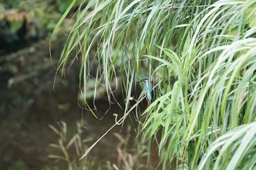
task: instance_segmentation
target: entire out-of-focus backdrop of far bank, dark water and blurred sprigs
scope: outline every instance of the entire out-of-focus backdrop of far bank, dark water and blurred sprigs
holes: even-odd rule
[[[77,7],[80,2],[76,2]],[[59,62],[67,40],[65,31],[72,21],[64,20],[65,30],[59,30],[61,34],[53,37],[52,58],[50,36],[69,3],[69,0],[0,1],[0,169],[157,166],[157,159],[147,165],[148,147],[141,139],[135,142],[138,123],[132,118],[123,127],[110,131],[86,159],[78,161],[115,123],[113,113],[123,111],[117,104],[110,107],[104,96],[95,101],[98,117],[110,109],[102,120],[79,107],[78,62],[66,70],[66,77],[56,74],[53,66]],[[72,9],[68,18],[75,11]]]

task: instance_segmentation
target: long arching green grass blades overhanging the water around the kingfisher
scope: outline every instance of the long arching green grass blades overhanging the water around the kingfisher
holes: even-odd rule
[[[72,51],[77,53],[87,107],[91,80],[94,98],[104,87],[110,100],[116,90],[111,83],[121,77],[126,107],[118,123],[129,115],[137,80],[151,77],[154,101],[141,113],[149,115],[143,135],[154,141],[160,134],[162,169],[170,169],[173,161],[188,169],[252,169],[255,7],[252,0],[89,1],[74,15],[58,69]],[[133,107],[143,95],[134,97]]]

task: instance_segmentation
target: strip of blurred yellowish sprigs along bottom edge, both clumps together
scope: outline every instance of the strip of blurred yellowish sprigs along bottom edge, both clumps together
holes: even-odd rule
[[[127,127],[126,136],[118,133],[113,134],[113,137],[118,140],[115,146],[116,150],[112,150],[113,153],[116,152],[116,160],[112,158],[112,160],[102,162],[100,155],[97,154],[79,161],[80,155],[89,145],[88,143],[94,140],[93,134],[86,136],[86,139],[81,139],[80,136],[82,136],[83,127],[80,123],[76,123],[77,131],[72,137],[69,137],[67,124],[64,121],[58,122],[57,124],[59,126],[57,128],[49,125],[49,128],[58,136],[58,142],[50,144],[50,147],[55,152],[48,155],[48,158],[54,160],[55,166],[45,166],[45,170],[113,169],[113,167],[118,167],[119,169],[146,169],[146,166],[148,166],[146,165],[148,147],[144,144],[145,142],[137,140],[133,142],[133,145],[129,142],[132,138],[131,126]],[[108,147],[111,148],[113,146],[108,144]],[[111,153],[108,155],[111,155]]]

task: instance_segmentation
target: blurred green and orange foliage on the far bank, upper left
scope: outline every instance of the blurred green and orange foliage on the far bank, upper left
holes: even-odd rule
[[[56,21],[68,5],[69,0],[0,1],[0,45],[5,47],[52,34]]]

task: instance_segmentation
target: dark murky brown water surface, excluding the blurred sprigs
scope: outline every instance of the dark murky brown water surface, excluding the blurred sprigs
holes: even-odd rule
[[[65,167],[64,163],[56,164],[48,158],[49,154],[56,152],[49,144],[56,143],[58,139],[48,125],[56,126],[63,120],[67,123],[67,134],[72,136],[75,133],[76,123],[82,118],[82,109],[78,107],[79,66],[72,66],[67,79],[57,77],[53,90],[55,69],[48,56],[48,40],[43,40],[9,55],[7,59],[0,58],[0,169]],[[97,101],[97,106],[99,117],[109,109],[108,101],[104,99]],[[102,120],[84,110],[86,128],[82,138],[90,138],[88,144],[93,144],[115,123],[113,113],[122,114],[123,110],[117,104],[113,105]],[[107,161],[117,163],[116,148],[120,140],[113,133],[126,136],[128,124],[132,127],[129,134],[129,144],[132,145],[138,123],[128,118],[122,130],[121,126],[116,126],[89,153],[88,157],[97,161],[97,167]]]

